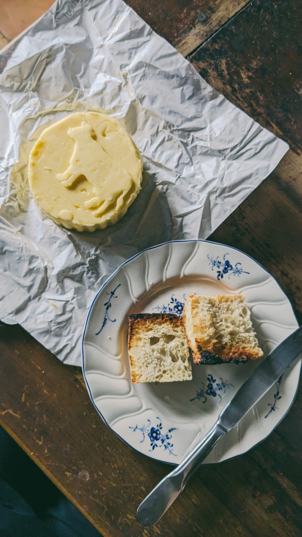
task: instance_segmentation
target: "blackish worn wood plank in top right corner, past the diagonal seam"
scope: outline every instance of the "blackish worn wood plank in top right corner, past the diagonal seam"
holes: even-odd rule
[[[189,59],[200,75],[294,151],[302,149],[299,0],[255,0]]]

